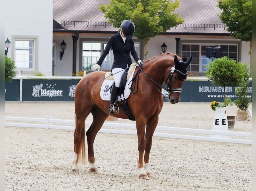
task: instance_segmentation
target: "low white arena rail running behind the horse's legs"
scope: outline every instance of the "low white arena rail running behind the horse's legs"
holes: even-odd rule
[[[85,124],[86,124],[86,130],[88,130],[92,122],[86,121]],[[62,130],[74,131],[75,121],[53,119],[51,118],[51,116],[46,116],[45,118],[5,116],[5,126],[62,129]],[[99,132],[137,135],[135,124],[113,123],[113,122],[112,123],[105,122]],[[173,132],[175,132],[175,134]],[[203,136],[202,134],[203,135],[207,134],[208,136]],[[217,131],[217,130],[207,130],[207,129],[157,126],[154,132],[154,136],[198,140],[198,141],[252,144],[252,140],[251,140],[252,133],[249,133],[249,132]],[[240,138],[240,137],[243,137],[243,138]]]

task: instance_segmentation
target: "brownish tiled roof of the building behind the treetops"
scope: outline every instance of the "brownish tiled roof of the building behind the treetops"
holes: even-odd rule
[[[116,32],[117,28],[108,23],[108,19],[99,9],[101,4],[106,5],[109,2],[109,0],[53,0],[53,19],[67,30]],[[181,0],[175,13],[184,18],[184,23],[171,28],[166,33],[230,34],[219,18],[221,10],[217,5],[218,0]]]

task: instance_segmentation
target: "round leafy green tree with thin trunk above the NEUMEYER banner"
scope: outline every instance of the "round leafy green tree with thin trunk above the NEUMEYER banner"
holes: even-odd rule
[[[225,87],[245,86],[249,81],[249,69],[246,63],[230,60],[226,56],[209,63],[206,77],[214,86],[224,87],[224,99],[226,98]]]

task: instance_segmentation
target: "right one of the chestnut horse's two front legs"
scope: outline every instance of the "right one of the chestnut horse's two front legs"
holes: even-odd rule
[[[155,117],[151,117],[147,122],[147,129],[146,129],[146,146],[145,146],[145,155],[144,155],[144,169],[147,173],[148,177],[153,177],[152,172],[149,170],[149,153],[152,146],[152,137],[155,132],[155,128],[158,123],[158,115]]]

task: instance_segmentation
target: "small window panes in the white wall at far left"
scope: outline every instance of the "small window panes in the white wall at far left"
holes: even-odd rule
[[[17,69],[34,70],[35,39],[15,39],[15,65]]]

